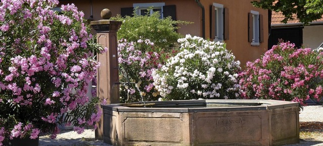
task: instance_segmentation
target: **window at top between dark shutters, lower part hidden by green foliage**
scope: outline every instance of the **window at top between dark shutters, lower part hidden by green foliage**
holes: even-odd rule
[[[137,15],[147,15],[152,14],[153,12],[159,12],[160,19],[163,18],[163,6],[165,6],[165,3],[138,3],[133,4],[134,8],[137,8]],[[150,9],[150,12],[148,12],[147,9]]]

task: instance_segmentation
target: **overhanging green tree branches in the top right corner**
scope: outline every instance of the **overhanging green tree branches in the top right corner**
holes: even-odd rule
[[[293,20],[293,14],[296,14],[300,22],[307,25],[309,22],[320,19],[323,15],[322,0],[261,0],[252,1],[254,7],[282,12],[285,16],[283,23]]]

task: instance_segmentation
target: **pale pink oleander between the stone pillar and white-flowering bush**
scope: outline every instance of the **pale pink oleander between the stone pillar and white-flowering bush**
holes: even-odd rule
[[[174,51],[173,51],[174,52]],[[156,49],[150,40],[139,39],[118,43],[120,95],[122,103],[156,101],[160,98],[152,79],[152,71],[161,67],[172,52]]]

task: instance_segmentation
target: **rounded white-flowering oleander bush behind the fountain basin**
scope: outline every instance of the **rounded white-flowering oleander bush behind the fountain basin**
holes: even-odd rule
[[[152,73],[155,88],[164,100],[239,97],[240,62],[234,60],[225,43],[190,35],[178,42],[181,51]]]

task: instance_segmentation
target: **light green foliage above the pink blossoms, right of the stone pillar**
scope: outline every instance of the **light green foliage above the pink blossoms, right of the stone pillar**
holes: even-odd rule
[[[150,12],[150,11],[148,11]],[[133,17],[113,17],[111,20],[122,21],[118,31],[118,40],[137,41],[149,39],[154,46],[163,49],[171,49],[177,43],[177,39],[183,36],[176,32],[179,24],[188,24],[184,21],[173,21],[171,17],[160,19],[159,12],[139,16],[134,13]]]

